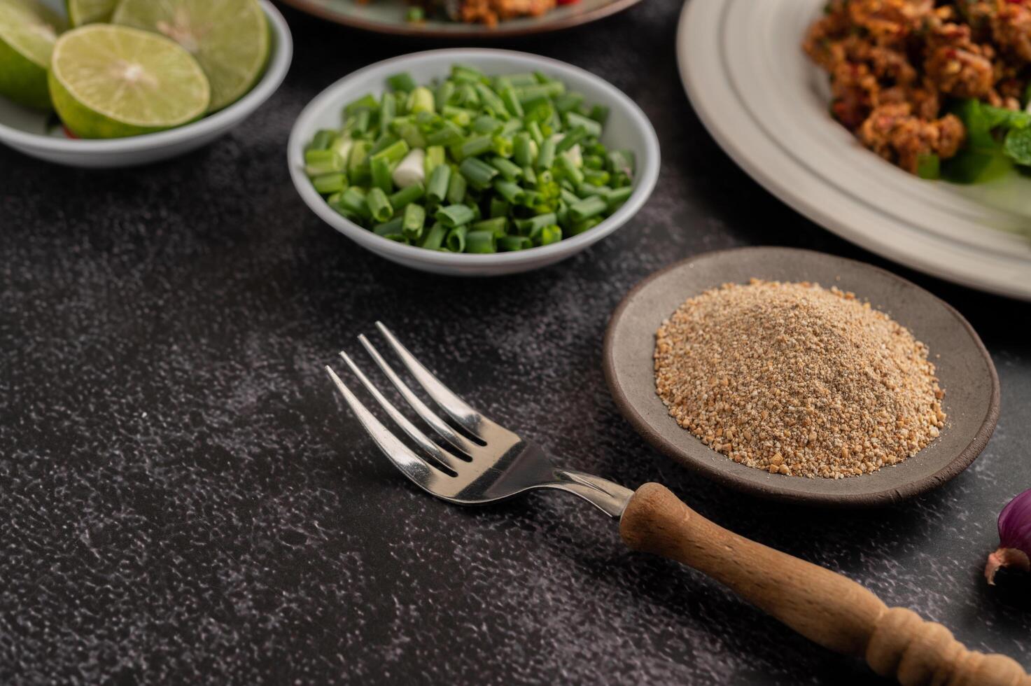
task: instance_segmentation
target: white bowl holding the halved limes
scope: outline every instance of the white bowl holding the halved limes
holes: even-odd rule
[[[64,3],[60,3],[61,6]],[[127,167],[189,153],[218,138],[250,117],[275,93],[287,75],[294,42],[282,14],[268,0],[262,9],[274,40],[261,80],[242,98],[209,117],[176,129],[130,138],[85,140],[67,137],[53,128],[54,116],[16,105],[0,97],[0,142],[26,155],[75,167]]]

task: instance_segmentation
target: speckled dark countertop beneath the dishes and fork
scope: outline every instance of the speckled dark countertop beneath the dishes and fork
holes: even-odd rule
[[[287,83],[205,150],[104,172],[0,149],[0,683],[872,680],[700,575],[629,553],[574,498],[462,510],[410,487],[321,370],[376,318],[569,466],[661,481],[1031,668],[1028,585],[980,578],[999,508],[1031,486],[1031,307],[891,265],[760,189],[684,96],[678,9],[647,0],[506,43],[623,89],[664,156],[628,227],[526,275],[401,269],[307,211],[284,163],[295,117],[348,70],[428,45],[295,11]],[[905,504],[819,513],[738,496],[646,448],[602,379],[609,313],[659,267],[755,243],[888,266],[966,315],[1002,381],[982,457]]]

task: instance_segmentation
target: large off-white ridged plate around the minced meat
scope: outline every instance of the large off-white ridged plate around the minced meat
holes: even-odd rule
[[[827,74],[801,48],[825,0],[690,0],[676,36],[688,97],[771,193],[867,250],[965,286],[1031,300],[1031,179],[927,182],[828,115]]]

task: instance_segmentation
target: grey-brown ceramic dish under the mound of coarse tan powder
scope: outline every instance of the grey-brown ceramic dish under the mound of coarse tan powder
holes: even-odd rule
[[[655,392],[655,331],[687,298],[751,277],[810,281],[854,291],[927,344],[945,390],[945,428],[901,464],[851,479],[771,475],[710,450],[669,416]],[[638,284],[616,309],[605,333],[605,378],[620,410],[662,453],[731,488],[825,507],[897,502],[940,486],[973,462],[999,418],[999,378],[980,338],[952,306],[884,269],[788,248],[741,248],[691,258]]]

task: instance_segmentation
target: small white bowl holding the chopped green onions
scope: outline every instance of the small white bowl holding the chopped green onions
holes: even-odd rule
[[[405,246],[344,219],[315,192],[304,173],[304,146],[319,129],[340,126],[343,105],[366,93],[379,95],[387,76],[409,72],[421,84],[448,73],[452,64],[474,66],[487,74],[539,70],[561,79],[573,91],[584,94],[586,102],[607,105],[608,122],[602,141],[613,149],[629,149],[637,158],[634,191],[616,213],[590,231],[551,246],[512,253],[468,255],[425,250]],[[287,145],[290,175],[301,198],[327,224],[363,248],[388,260],[414,269],[442,274],[487,276],[529,271],[575,255],[623,226],[647,200],[659,177],[659,139],[644,112],[611,84],[577,67],[548,58],[503,50],[436,50],[414,53],[377,62],[336,81],[308,103],[294,124]]]

